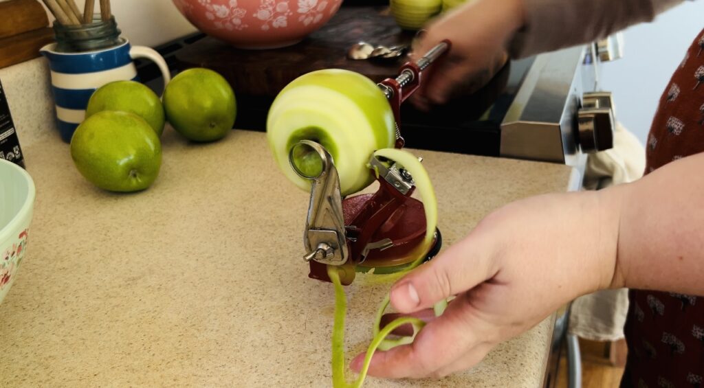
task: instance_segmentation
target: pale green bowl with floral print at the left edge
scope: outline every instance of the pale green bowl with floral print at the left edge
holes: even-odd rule
[[[0,159],[0,303],[25,257],[33,209],[34,182],[30,174]]]

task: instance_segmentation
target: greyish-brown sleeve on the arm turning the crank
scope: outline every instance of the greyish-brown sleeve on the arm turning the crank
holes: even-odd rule
[[[524,27],[509,46],[513,58],[584,44],[649,22],[682,0],[523,0]]]

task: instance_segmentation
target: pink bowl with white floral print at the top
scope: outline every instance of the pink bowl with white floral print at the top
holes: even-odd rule
[[[238,48],[291,46],[318,30],[342,0],[173,0],[199,30]]]

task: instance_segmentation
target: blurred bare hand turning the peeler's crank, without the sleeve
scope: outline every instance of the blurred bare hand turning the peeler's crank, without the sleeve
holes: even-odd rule
[[[449,39],[448,56],[411,98],[427,110],[484,86],[508,60],[506,44],[523,25],[522,0],[474,0],[432,22],[413,48],[417,60]]]

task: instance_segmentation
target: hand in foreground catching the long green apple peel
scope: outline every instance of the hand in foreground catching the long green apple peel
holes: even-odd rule
[[[618,198],[613,190],[542,195],[490,214],[394,285],[394,308],[422,319],[432,317],[434,303],[456,297],[413,344],[377,352],[369,374],[437,377],[465,370],[575,297],[609,287]]]

